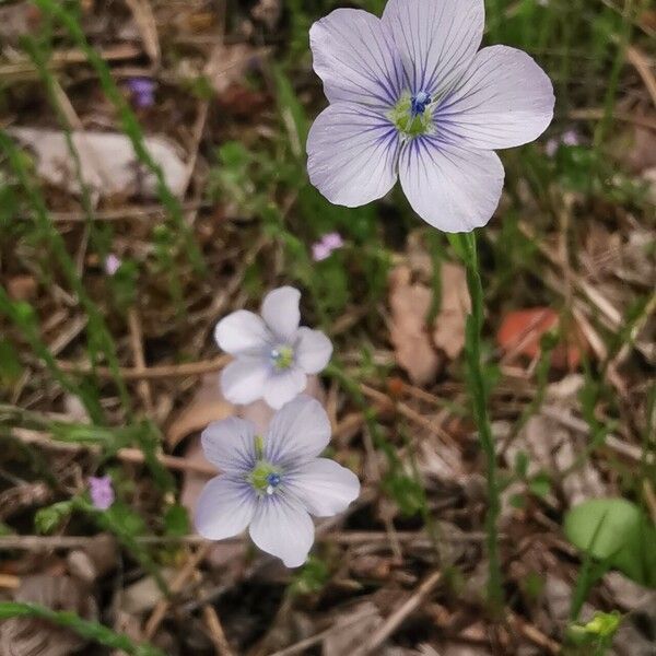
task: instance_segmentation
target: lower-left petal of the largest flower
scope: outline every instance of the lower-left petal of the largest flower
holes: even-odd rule
[[[356,208],[382,198],[397,180],[399,137],[385,117],[362,105],[324,109],[307,138],[312,184],[332,203]]]

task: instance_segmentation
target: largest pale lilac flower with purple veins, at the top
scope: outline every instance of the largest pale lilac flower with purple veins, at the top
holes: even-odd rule
[[[358,207],[400,178],[414,211],[446,232],[488,223],[504,169],[495,149],[537,139],[553,87],[525,52],[479,50],[483,0],[389,0],[378,19],[338,9],[311,30],[330,106],[307,140],[311,181]]]

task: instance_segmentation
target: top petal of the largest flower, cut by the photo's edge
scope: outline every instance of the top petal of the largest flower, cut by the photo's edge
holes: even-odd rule
[[[401,52],[410,90],[442,96],[471,63],[485,22],[483,0],[389,0],[383,24]]]

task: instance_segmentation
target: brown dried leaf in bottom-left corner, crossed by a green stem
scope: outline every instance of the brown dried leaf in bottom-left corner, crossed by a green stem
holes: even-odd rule
[[[14,593],[14,600],[71,610],[86,620],[98,616],[95,599],[86,587],[69,576],[27,576]],[[70,656],[85,644],[77,633],[35,618],[12,618],[0,624],[2,656]]]

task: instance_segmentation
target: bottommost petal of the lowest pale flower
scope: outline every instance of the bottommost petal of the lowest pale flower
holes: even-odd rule
[[[298,567],[314,542],[314,524],[303,505],[291,496],[272,494],[261,499],[253,523],[253,541],[288,567]]]

